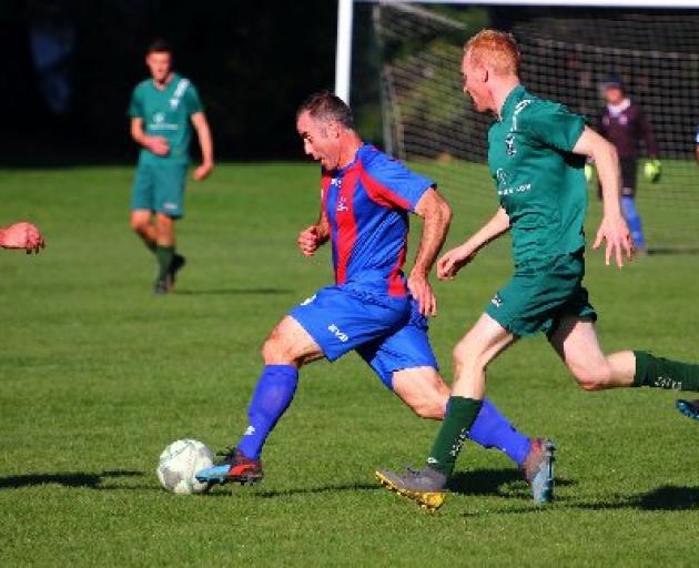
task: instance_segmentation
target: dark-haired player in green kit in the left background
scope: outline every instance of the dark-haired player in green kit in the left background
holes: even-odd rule
[[[213,143],[204,109],[194,85],[172,70],[172,49],[154,41],[145,55],[151,78],[131,95],[131,138],[141,145],[131,195],[131,226],[158,258],[154,292],[169,292],[184,266],[175,252],[174,223],[184,214],[184,186],[190,164],[192,126],[202,151],[194,180],[213,169]]]

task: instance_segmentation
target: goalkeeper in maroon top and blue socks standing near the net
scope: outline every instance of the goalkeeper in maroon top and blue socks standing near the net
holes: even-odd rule
[[[648,158],[652,160],[651,170],[660,173],[658,161],[658,141],[650,122],[640,105],[631,101],[618,77],[611,75],[604,83],[607,105],[598,121],[598,131],[611,142],[619,154],[621,169],[621,209],[631,231],[637,253],[646,252],[646,239],[640,216],[634,201],[638,171],[639,142],[644,142]]]

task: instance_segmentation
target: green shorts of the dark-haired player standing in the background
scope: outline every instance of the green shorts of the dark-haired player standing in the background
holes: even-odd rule
[[[139,164],[131,210],[146,209],[175,219],[183,216],[186,171],[183,164]]]

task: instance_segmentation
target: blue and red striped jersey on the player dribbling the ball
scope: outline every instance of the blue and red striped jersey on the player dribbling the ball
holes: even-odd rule
[[[407,214],[433,185],[371,144],[363,144],[348,165],[323,171],[336,284],[407,295]]]

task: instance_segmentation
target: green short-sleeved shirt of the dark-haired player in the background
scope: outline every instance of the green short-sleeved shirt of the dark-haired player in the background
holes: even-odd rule
[[[203,111],[196,89],[189,79],[174,73],[164,89],[151,79],[140,82],[131,95],[129,116],[143,119],[143,131],[151,136],[164,136],[170,153],[155,155],[142,148],[139,164],[188,164],[192,139],[192,114]]]

